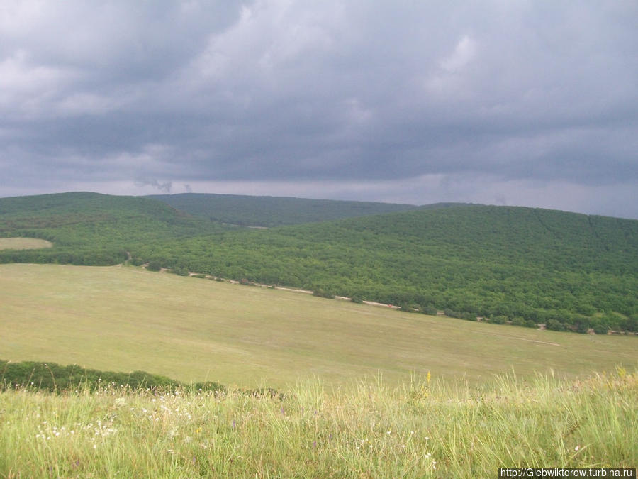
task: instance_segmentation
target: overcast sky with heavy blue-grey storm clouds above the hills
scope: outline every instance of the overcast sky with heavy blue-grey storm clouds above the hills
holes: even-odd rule
[[[638,219],[638,2],[0,2],[0,197]]]

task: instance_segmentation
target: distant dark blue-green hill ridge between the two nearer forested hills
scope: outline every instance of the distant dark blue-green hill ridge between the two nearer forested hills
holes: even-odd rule
[[[240,226],[303,224],[417,208],[412,204],[238,194],[154,194],[148,198],[159,199],[198,218]]]

